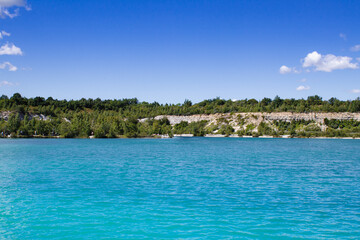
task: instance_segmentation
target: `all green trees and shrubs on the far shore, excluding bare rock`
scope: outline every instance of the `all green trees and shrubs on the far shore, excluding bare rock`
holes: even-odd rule
[[[173,134],[223,135],[290,135],[311,136],[360,136],[358,121],[326,120],[326,130],[311,121],[262,122],[259,126],[245,124],[238,119],[241,130],[235,132],[226,120],[218,124],[208,122],[181,122],[171,126],[166,118],[154,120],[158,115],[193,115],[235,112],[360,112],[360,99],[341,101],[336,98],[323,100],[319,96],[305,99],[264,98],[260,101],[239,101],[220,98],[204,100],[197,104],[185,100],[183,104],[139,102],[136,98],[121,100],[80,99],[55,100],[53,98],[25,98],[16,93],[0,97],[0,113],[10,112],[8,119],[0,116],[0,137],[147,137]],[[46,116],[46,119],[34,116]],[[147,118],[145,121],[139,119]]]

